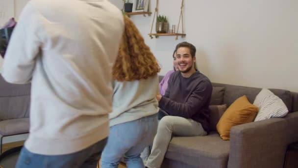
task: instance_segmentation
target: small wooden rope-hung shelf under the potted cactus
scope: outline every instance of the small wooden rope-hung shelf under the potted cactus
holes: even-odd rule
[[[183,25],[184,0],[181,0],[180,16],[179,16],[179,22],[178,22],[177,32],[174,32],[174,33],[173,32],[171,32],[171,33],[152,33],[152,29],[153,29],[153,24],[154,24],[154,21],[155,21],[155,17],[157,19],[158,2],[159,2],[159,0],[156,0],[156,7],[155,7],[155,10],[154,10],[153,21],[152,21],[151,30],[150,30],[150,33],[149,33],[150,38],[153,39],[153,36],[155,36],[156,38],[158,38],[159,36],[176,36],[176,40],[177,40],[178,39],[178,36],[185,37],[186,34],[184,33],[184,25]],[[181,24],[181,26],[182,26],[182,33],[178,33],[179,32],[180,21],[182,22],[182,24]]]

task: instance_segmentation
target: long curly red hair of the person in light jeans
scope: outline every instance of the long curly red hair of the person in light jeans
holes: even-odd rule
[[[134,81],[156,75],[160,67],[134,23],[124,16],[125,30],[113,66],[113,79]]]

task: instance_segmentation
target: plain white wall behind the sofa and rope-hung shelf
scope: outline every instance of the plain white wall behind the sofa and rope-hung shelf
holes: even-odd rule
[[[118,7],[121,0],[110,0]],[[154,12],[156,0],[150,0]],[[159,0],[159,14],[177,25],[181,0]],[[150,39],[153,19],[131,19],[163,68],[177,43],[197,47],[199,70],[212,82],[298,91],[298,0],[184,0],[184,39]],[[153,32],[154,25],[153,25]]]

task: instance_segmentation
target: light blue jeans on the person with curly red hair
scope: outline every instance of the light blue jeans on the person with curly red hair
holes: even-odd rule
[[[152,143],[157,131],[157,115],[110,127],[109,140],[101,155],[100,168],[118,168],[121,158],[127,168],[144,168],[141,152]]]

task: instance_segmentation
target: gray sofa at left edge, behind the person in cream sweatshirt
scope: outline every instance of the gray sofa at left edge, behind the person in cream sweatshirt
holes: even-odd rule
[[[0,75],[0,153],[2,138],[29,132],[31,84],[9,84]]]

